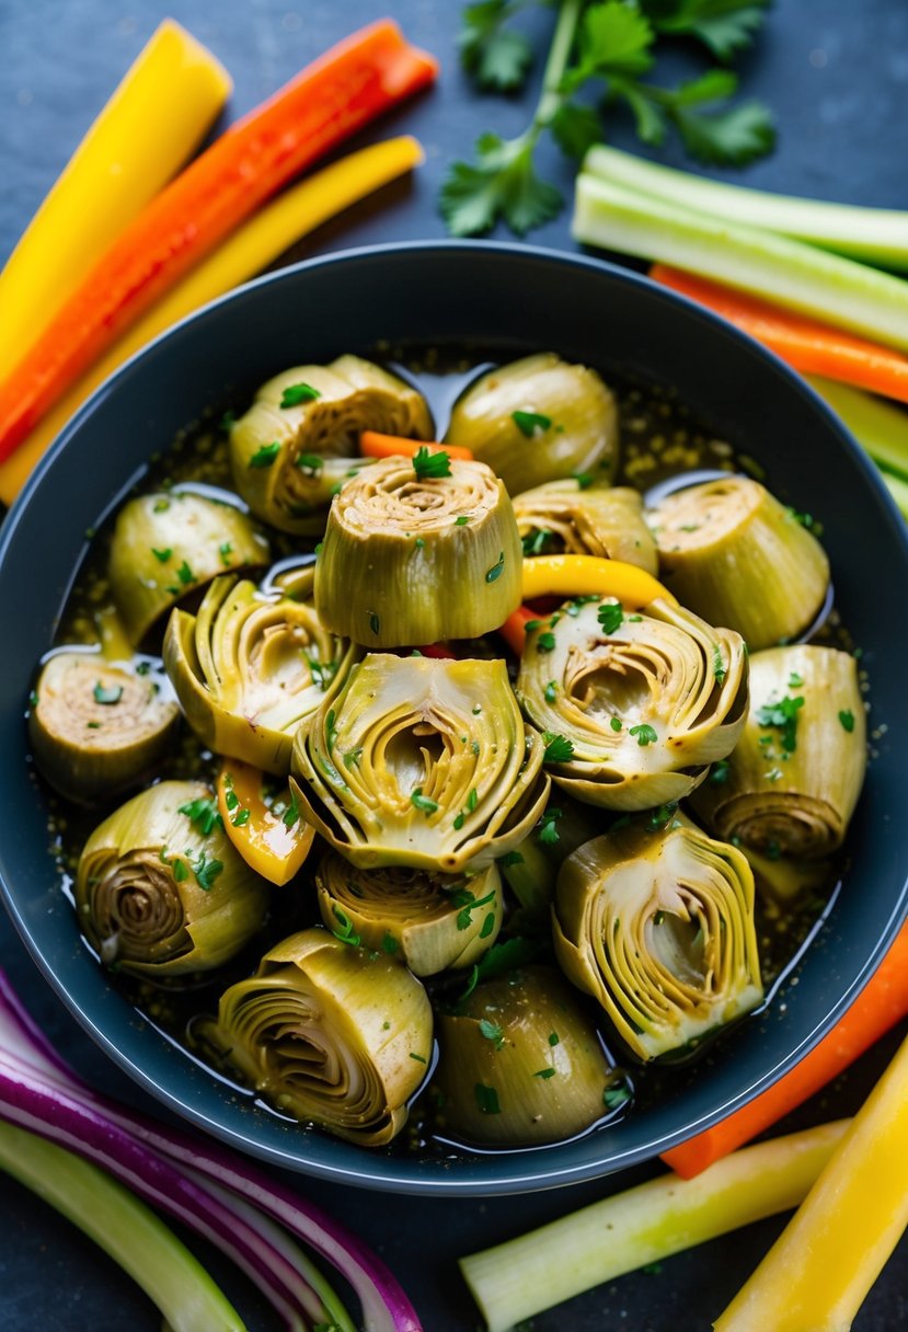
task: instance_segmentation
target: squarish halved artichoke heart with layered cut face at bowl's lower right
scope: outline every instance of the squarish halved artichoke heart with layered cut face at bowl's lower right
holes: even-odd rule
[[[687,819],[626,826],[568,856],[554,943],[566,975],[643,1060],[698,1042],[763,999],[751,868]]]

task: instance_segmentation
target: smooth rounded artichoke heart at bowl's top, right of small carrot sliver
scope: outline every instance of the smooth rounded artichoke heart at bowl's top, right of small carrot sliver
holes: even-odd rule
[[[578,474],[607,481],[618,466],[618,408],[595,370],[541,352],[471,384],[445,438],[487,462],[511,496]]]

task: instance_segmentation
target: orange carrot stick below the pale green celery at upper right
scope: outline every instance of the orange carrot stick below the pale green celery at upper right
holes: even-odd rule
[[[901,352],[667,264],[654,264],[650,277],[722,314],[804,374],[821,374],[908,402],[908,356]]]

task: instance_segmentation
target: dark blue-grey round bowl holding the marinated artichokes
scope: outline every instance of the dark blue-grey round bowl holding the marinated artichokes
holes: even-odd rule
[[[558,1147],[449,1160],[383,1155],[286,1124],[196,1066],[111,986],[79,939],[47,851],[23,713],[87,529],[149,456],[206,409],[288,365],[375,344],[555,349],[674,385],[758,458],[772,488],[821,519],[836,598],[872,682],[873,759],[841,892],[795,976],[719,1056],[659,1103]],[[124,366],[77,414],[8,517],[0,545],[0,878],[57,994],[133,1078],[218,1138],[277,1164],[374,1188],[493,1193],[604,1175],[704,1128],[768,1087],[839,1018],[908,900],[903,779],[908,706],[905,527],[873,466],[807,385],[756,342],[647,278],[588,258],[493,244],[355,250],[265,277],[210,305]]]

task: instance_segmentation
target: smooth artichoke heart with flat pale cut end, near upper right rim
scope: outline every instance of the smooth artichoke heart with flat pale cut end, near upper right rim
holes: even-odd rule
[[[829,587],[829,561],[797,514],[750,477],[667,496],[647,513],[660,577],[711,625],[736,629],[752,651],[796,638]]]

